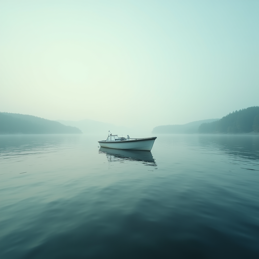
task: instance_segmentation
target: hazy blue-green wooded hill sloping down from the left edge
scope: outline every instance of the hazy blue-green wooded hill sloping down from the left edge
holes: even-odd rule
[[[0,112],[0,134],[80,134],[76,127],[32,115]]]

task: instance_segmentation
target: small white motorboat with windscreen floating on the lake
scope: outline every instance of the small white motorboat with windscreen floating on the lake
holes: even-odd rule
[[[98,141],[101,147],[129,150],[146,150],[150,151],[153,147],[156,137],[132,139],[129,135],[127,138],[119,138],[118,135],[112,135],[109,131],[106,140]]]

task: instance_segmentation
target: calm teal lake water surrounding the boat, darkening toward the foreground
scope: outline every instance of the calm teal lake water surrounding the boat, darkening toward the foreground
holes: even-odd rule
[[[259,258],[259,135],[0,135],[0,258]]]

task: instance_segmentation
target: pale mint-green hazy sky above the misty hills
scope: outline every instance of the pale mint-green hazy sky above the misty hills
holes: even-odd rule
[[[153,127],[259,105],[259,1],[0,3],[0,111]]]

